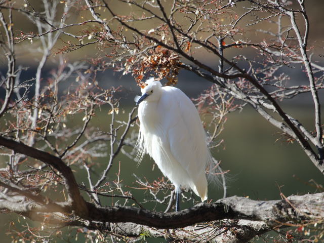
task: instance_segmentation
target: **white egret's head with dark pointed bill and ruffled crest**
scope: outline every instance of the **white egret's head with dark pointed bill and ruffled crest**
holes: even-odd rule
[[[139,105],[143,100],[157,101],[161,96],[162,85],[159,81],[150,78],[146,80],[145,84],[146,86],[141,88],[142,96],[138,99],[136,105]]]

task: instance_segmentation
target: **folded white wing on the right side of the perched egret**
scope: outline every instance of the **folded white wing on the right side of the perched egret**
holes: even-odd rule
[[[190,176],[205,173],[210,154],[198,111],[181,90],[173,87],[164,89],[168,91],[166,98],[171,102],[165,118],[168,121],[164,123],[168,124],[165,129],[172,155]]]

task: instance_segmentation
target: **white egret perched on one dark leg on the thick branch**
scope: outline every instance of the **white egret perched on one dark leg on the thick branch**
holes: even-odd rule
[[[153,78],[136,96],[140,130],[136,147],[142,160],[148,153],[176,188],[176,211],[181,187],[191,188],[207,199],[206,167],[212,157],[198,111],[191,100],[175,87],[162,87]]]

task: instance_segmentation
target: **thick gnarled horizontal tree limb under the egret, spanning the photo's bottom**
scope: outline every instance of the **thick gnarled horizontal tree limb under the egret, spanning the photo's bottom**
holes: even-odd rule
[[[159,229],[174,229],[172,236],[181,239],[192,238],[197,234],[199,237],[213,237],[217,242],[220,239],[240,242],[229,239],[239,237],[249,240],[273,228],[320,222],[324,218],[323,201],[324,192],[269,201],[232,196],[219,199],[213,204],[201,203],[176,213],[152,212],[135,207],[100,207],[88,203],[88,211],[91,212],[89,216],[73,217],[66,212],[61,222],[61,216],[58,217],[60,213],[50,215],[45,213],[44,206],[39,210],[35,204],[30,207],[30,203],[26,201],[13,203],[0,199],[0,210],[16,212],[36,221],[47,218],[50,224],[100,228],[127,236],[144,234],[147,237],[162,237],[166,231]],[[35,212],[37,209],[38,212]],[[234,231],[230,228],[235,228],[235,235],[231,234]]]

